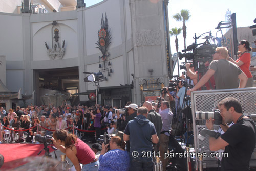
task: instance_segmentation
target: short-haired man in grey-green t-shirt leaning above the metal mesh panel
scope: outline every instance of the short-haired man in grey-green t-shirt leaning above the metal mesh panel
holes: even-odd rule
[[[191,95],[192,91],[202,87],[212,75],[215,78],[216,89],[245,87],[248,78],[236,64],[227,60],[228,50],[226,47],[217,47],[212,57],[213,61],[211,61],[209,69],[194,88],[187,90],[187,95]],[[239,87],[238,79],[240,79]]]

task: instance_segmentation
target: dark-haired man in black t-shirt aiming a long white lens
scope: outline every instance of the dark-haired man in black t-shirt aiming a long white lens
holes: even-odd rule
[[[225,148],[228,157],[221,160],[221,170],[249,170],[251,154],[256,143],[254,121],[242,114],[242,106],[233,97],[219,102],[222,116],[221,128],[225,132],[219,138],[209,137],[209,148],[217,151]],[[235,123],[228,127],[226,123]],[[209,130],[214,130],[212,118],[206,121]]]

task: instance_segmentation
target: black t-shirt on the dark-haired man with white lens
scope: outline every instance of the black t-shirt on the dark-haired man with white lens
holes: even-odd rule
[[[240,119],[221,135],[229,143],[221,160],[221,170],[249,170],[251,154],[256,143],[255,124],[251,119]]]

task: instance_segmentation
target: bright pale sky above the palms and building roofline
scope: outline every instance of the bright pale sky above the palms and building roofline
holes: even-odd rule
[[[89,7],[101,1],[102,0],[85,0],[84,2],[86,3],[86,7]],[[256,0],[169,0],[169,29],[175,27],[182,28],[183,23],[176,21],[172,17],[182,9],[189,10],[191,15],[189,20],[186,22],[186,46],[191,45],[195,41],[193,39],[195,33],[199,36],[202,33],[211,31],[212,36],[221,37],[221,33],[217,33],[218,30],[215,28],[218,26],[219,22],[225,21],[225,14],[228,9],[231,11],[231,14],[236,13],[237,27],[252,26],[254,25],[253,20],[256,18]],[[226,29],[222,29],[222,32],[225,34]],[[179,51],[181,52],[181,50],[184,49],[182,32],[178,35],[178,40]],[[204,41],[205,39],[198,39],[197,43],[202,43]],[[175,36],[170,38],[170,45],[172,54],[176,53]],[[176,65],[174,75],[177,75],[177,73]]]

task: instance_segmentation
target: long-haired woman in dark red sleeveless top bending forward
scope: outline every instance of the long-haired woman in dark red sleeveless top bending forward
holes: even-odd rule
[[[68,134],[64,129],[53,132],[53,144],[74,164],[77,171],[97,171],[99,161],[92,149],[74,134]],[[81,168],[80,164],[83,166]]]

